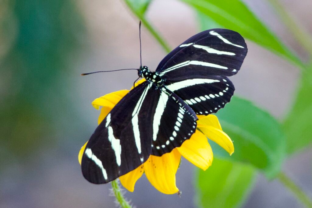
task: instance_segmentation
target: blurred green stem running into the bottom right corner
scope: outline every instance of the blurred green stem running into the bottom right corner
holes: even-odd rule
[[[280,172],[277,176],[280,182],[286,186],[293,194],[297,197],[297,199],[304,204],[306,207],[312,208],[311,197],[309,197],[302,189],[295,184],[285,173]]]

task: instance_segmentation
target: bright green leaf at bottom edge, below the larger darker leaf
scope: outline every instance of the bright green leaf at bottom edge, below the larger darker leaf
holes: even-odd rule
[[[214,158],[207,171],[198,170],[198,204],[207,208],[241,206],[250,193],[255,175],[250,166]]]

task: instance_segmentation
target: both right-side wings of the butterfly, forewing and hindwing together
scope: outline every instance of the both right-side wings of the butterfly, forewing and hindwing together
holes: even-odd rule
[[[199,115],[217,112],[228,103],[235,75],[247,54],[243,37],[231,30],[203,31],[184,41],[158,65],[167,89]]]

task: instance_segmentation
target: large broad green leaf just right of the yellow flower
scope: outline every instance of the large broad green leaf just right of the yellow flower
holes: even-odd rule
[[[269,178],[280,172],[285,157],[285,136],[280,124],[270,114],[250,101],[234,96],[217,116],[223,131],[232,139],[235,152],[228,156],[210,142],[215,154],[252,164]]]

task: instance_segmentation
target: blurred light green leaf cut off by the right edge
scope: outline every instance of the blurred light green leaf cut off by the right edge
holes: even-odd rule
[[[287,153],[293,153],[312,142],[312,65],[302,74],[295,104],[284,122]]]

